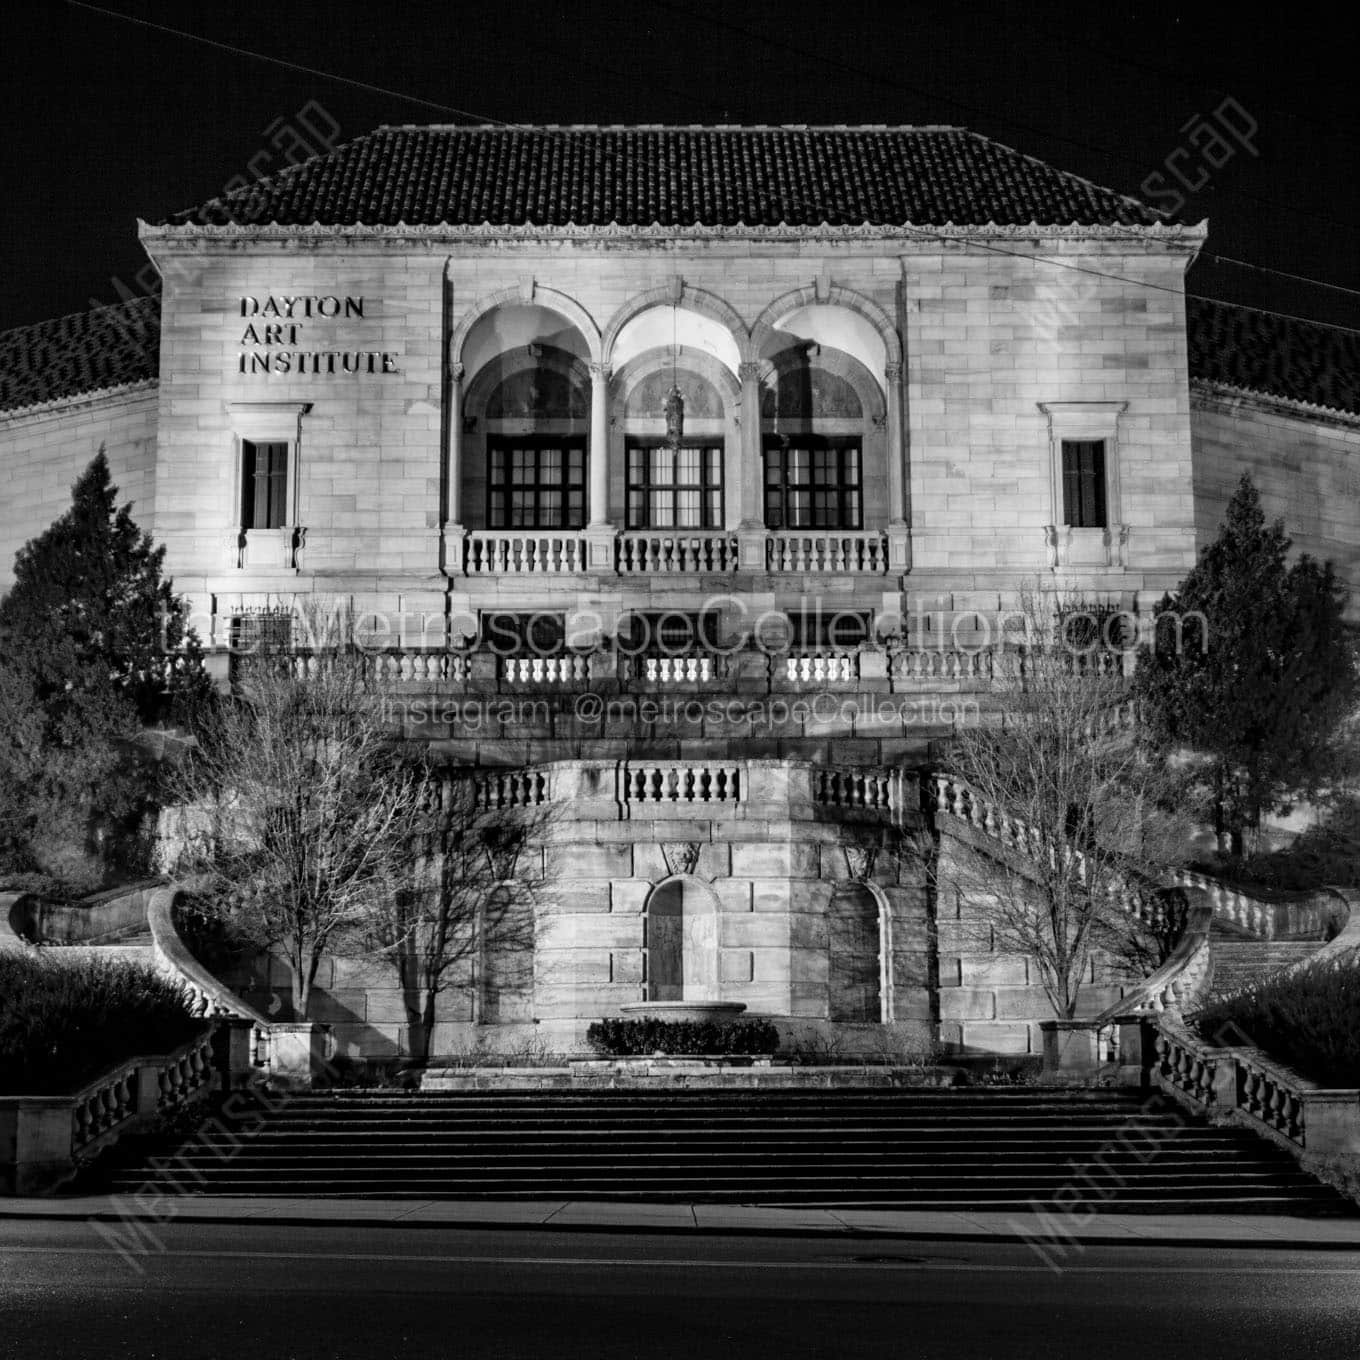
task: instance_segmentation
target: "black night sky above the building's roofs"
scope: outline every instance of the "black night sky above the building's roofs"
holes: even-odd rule
[[[282,167],[265,129],[309,101],[339,140],[384,122],[963,125],[1157,207],[1182,193],[1216,254],[1360,290],[1353,48],[1323,7],[1274,7],[1269,27],[1092,0],[98,8],[5,14],[0,328],[116,302],[116,279],[136,292],[136,218],[214,197],[252,158]],[[1360,326],[1356,295],[1236,264],[1202,258],[1190,287]]]

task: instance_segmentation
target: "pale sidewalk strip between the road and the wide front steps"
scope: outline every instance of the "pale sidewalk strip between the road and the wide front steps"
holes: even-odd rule
[[[1360,1251],[1360,1216],[1036,1214],[910,1209],[779,1209],[713,1204],[549,1201],[303,1200],[230,1195],[0,1200],[11,1220],[277,1223],[396,1228],[525,1228],[577,1232],[707,1232],[732,1236],[881,1236],[898,1239],[1091,1246],[1216,1246]]]

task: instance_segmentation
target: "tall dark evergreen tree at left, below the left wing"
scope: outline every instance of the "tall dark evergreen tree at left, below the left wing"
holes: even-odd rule
[[[152,806],[144,725],[211,695],[165,549],[116,498],[101,447],[0,601],[0,865],[72,891],[98,885]]]

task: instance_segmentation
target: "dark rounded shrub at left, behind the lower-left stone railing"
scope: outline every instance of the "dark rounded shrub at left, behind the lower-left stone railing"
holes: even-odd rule
[[[188,993],[140,964],[0,955],[0,1095],[63,1095],[201,1034]]]

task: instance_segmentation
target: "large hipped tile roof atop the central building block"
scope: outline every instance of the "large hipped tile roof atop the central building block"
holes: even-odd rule
[[[169,224],[1132,226],[1157,211],[962,128],[378,128]]]

